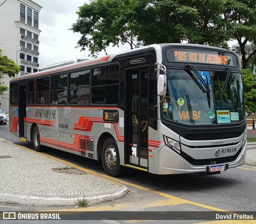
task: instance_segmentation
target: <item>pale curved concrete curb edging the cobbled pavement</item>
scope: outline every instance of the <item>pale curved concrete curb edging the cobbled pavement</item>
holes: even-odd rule
[[[85,198],[88,204],[97,204],[106,202],[111,199],[119,199],[128,192],[126,186],[120,186],[118,191],[106,194],[84,195],[83,197],[74,196],[43,196],[43,195],[28,195],[10,192],[0,192],[0,202],[17,203],[35,206],[74,206],[75,200]]]

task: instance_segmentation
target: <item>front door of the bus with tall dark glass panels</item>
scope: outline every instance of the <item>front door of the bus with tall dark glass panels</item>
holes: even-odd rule
[[[126,139],[126,161],[139,169],[148,170],[148,67],[126,71],[126,100],[129,101],[129,141]],[[128,100],[128,99],[129,100]],[[126,102],[127,102],[126,101]],[[128,155],[129,154],[129,155]]]

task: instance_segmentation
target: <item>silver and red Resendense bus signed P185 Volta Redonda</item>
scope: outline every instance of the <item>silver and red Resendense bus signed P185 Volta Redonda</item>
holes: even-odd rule
[[[74,63],[75,62],[75,63]],[[152,44],[46,66],[10,81],[10,132],[153,174],[219,174],[246,157],[242,69],[234,52]]]

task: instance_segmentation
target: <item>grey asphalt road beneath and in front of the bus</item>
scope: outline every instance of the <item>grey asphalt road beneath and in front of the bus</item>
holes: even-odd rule
[[[0,137],[15,144],[32,148],[31,143],[20,141],[9,132],[8,128],[8,124],[0,125]],[[51,148],[46,148],[45,153],[104,174],[100,161],[93,161]],[[204,211],[217,208],[228,211],[256,211],[256,167],[232,168],[212,176],[198,176],[196,174],[154,175],[129,168],[126,170],[126,175],[116,178],[116,181],[126,185],[132,193],[115,201],[116,210]],[[111,203],[106,202],[102,205],[92,206],[92,210],[110,210],[112,207],[113,203],[111,205]],[[19,209],[19,207],[4,205],[0,209]],[[36,207],[26,209],[40,210]],[[196,222],[187,221],[184,223]]]

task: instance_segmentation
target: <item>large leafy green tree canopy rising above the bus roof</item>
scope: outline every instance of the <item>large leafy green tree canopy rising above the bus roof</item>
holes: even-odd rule
[[[154,43],[240,46],[243,68],[246,43],[256,37],[256,0],[92,0],[79,7],[73,32],[82,34],[77,47],[91,54],[112,44],[132,48]],[[248,53],[248,52],[247,52]]]

